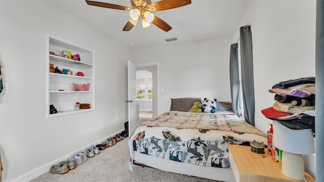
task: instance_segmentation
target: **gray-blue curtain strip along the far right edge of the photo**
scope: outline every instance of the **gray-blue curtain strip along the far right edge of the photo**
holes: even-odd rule
[[[324,1],[316,1],[316,50],[315,50],[315,84],[316,111],[315,112],[315,146],[316,146],[316,181],[324,181]]]

